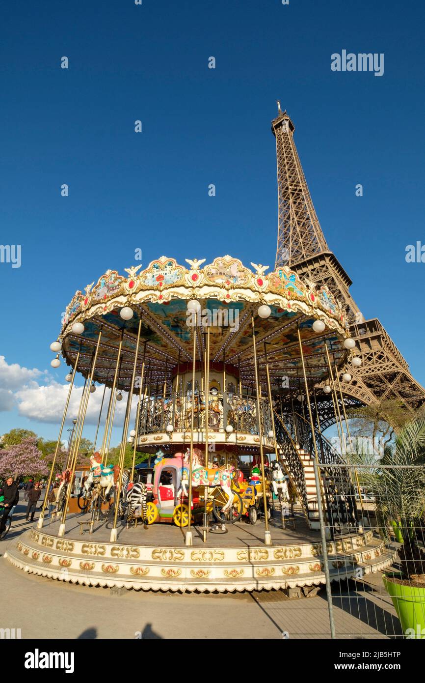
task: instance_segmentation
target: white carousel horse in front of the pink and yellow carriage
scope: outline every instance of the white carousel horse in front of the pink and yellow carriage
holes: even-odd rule
[[[177,492],[177,496],[182,492],[184,496],[188,495],[188,469],[189,469],[189,458],[190,458],[190,448],[186,450],[185,454],[177,453],[176,456],[182,456],[184,468],[182,471],[180,488]],[[185,472],[186,470],[186,472]],[[230,510],[233,504],[233,491],[231,489],[232,479],[237,477],[238,472],[233,466],[226,468],[220,467],[218,469],[210,469],[205,467],[205,457],[203,452],[199,448],[193,449],[192,457],[192,486],[220,486],[226,496],[228,497],[227,503],[222,507],[222,512],[227,512]]]

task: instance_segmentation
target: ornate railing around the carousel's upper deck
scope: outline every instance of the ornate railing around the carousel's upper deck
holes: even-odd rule
[[[218,391],[207,397],[203,391],[155,394],[142,399],[139,434],[166,432],[168,425],[173,430],[184,432],[190,429],[192,402],[194,402],[194,430],[205,430],[208,401],[208,429],[225,430],[231,425],[235,432],[259,434],[259,421],[264,436],[272,432],[272,416],[268,401],[260,399],[260,416],[257,415],[257,398],[251,395]]]

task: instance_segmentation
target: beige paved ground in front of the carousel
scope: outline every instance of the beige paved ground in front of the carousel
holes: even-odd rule
[[[10,537],[0,542],[0,628],[20,628],[25,639],[282,639],[282,632],[290,639],[329,638],[324,589],[300,600],[282,591],[182,595],[76,586],[25,574],[3,557],[28,527],[24,510],[18,506]],[[400,626],[381,574],[349,587],[347,592],[346,583],[334,584],[337,636],[394,637]]]

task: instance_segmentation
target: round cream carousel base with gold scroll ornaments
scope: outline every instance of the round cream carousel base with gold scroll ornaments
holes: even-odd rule
[[[280,518],[272,518],[272,546],[264,544],[262,522],[237,522],[224,533],[218,527],[206,543],[202,531],[192,527],[193,544],[186,546],[185,529],[173,525],[120,525],[118,540],[111,543],[109,523],[96,522],[93,533],[80,533],[88,529],[80,522],[87,520],[71,515],[61,537],[57,521],[28,529],[10,543],[6,557],[26,572],[59,581],[145,591],[257,591],[325,583],[319,532],[308,529],[301,516],[295,529],[285,530]],[[370,529],[340,535],[328,542],[327,552],[332,581],[383,570],[394,557]]]

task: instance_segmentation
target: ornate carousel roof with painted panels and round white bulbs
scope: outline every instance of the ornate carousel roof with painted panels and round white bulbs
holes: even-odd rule
[[[343,347],[348,337],[344,313],[332,293],[325,287],[316,289],[310,281],[300,281],[290,268],[283,266],[266,273],[267,266],[246,268],[229,255],[216,258],[203,266],[203,260],[186,260],[187,268],[165,256],[152,261],[147,268],[126,268],[128,277],[107,270],[98,281],[76,292],[65,311],[59,339],[62,354],[74,365],[78,348],[78,370],[87,374],[102,326],[102,338],[94,380],[112,385],[119,340],[123,339],[119,388],[130,386],[134,363],[138,323],[142,317],[141,346],[151,363],[153,382],[171,379],[173,368],[192,359],[193,331],[198,336],[198,357],[205,339],[202,326],[188,324],[187,303],[199,301],[212,320],[210,326],[210,360],[230,364],[240,371],[242,382],[254,375],[252,361],[251,313],[254,313],[257,354],[261,364],[262,343],[267,342],[267,356],[273,378],[282,375],[302,376],[297,328],[302,333],[308,376],[320,380],[327,374],[325,340],[339,365],[347,356]],[[203,266],[203,267],[201,267]],[[257,316],[259,305],[271,309],[267,319]],[[120,316],[122,307],[131,307],[131,320]],[[226,318],[227,315],[227,318]],[[215,320],[227,324],[216,324]],[[323,333],[312,329],[314,320],[325,323]],[[72,326],[83,322],[85,331],[75,334]],[[210,323],[211,325],[211,323]],[[145,344],[144,344],[145,342]]]

